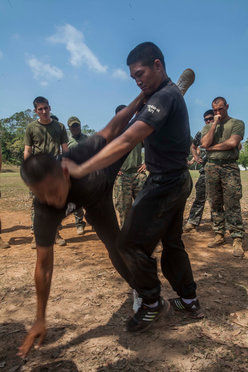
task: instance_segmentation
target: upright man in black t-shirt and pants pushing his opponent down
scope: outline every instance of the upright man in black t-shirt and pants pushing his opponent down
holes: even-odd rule
[[[150,174],[117,240],[129,270],[129,285],[142,298],[127,330],[143,332],[170,306],[192,318],[204,316],[196,300],[196,283],[181,240],[184,206],[192,189],[187,166],[189,117],[181,92],[185,93],[189,77],[193,83],[194,72],[184,71],[178,89],[166,74],[161,50],[151,42],[134,48],[127,64],[131,77],[149,96],[146,104],[129,128],[102,151],[81,165],[65,159],[64,166],[71,176],[84,177],[109,166],[139,141],[145,141],[145,164]],[[162,273],[179,296],[168,301],[160,297],[157,263],[151,257],[160,238]]]

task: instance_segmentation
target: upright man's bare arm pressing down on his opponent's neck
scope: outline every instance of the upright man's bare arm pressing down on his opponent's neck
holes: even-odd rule
[[[87,176],[90,172],[106,168],[110,164],[115,163],[152,132],[154,132],[154,128],[151,125],[137,120],[122,135],[115,138],[115,140],[111,141],[99,153],[83,164],[78,165],[68,158],[63,158],[62,166],[68,168],[72,177],[81,178]]]

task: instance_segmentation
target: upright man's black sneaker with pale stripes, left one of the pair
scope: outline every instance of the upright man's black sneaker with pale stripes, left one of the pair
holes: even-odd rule
[[[129,320],[128,324],[126,325],[126,329],[129,332],[144,332],[151,327],[152,323],[154,323],[155,320],[160,318],[165,312],[169,310],[170,302],[162,299],[162,297],[159,298],[158,306],[155,308],[148,307],[142,302],[139,310],[136,312],[135,315],[133,315],[132,319]]]

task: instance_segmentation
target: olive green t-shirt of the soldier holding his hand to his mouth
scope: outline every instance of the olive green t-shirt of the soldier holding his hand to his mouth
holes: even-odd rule
[[[202,137],[209,131],[211,124],[204,125],[202,129]],[[242,120],[230,118],[226,121],[220,122],[217,125],[215,134],[213,136],[213,142],[211,146],[222,143],[233,135],[239,135],[244,138],[245,135],[245,124]],[[238,146],[230,148],[229,150],[218,150],[218,151],[207,151],[207,158],[210,159],[238,159],[239,158],[239,148]]]

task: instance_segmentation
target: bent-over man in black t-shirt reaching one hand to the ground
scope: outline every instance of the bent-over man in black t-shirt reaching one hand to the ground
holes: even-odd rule
[[[145,94],[141,92],[128,107],[117,113],[106,128],[90,137],[83,145],[71,147],[63,156],[81,164],[99,153],[120,134],[136,110],[143,106],[145,99]],[[130,125],[131,123],[127,127]],[[18,353],[22,357],[28,353],[36,337],[41,337],[41,344],[45,336],[45,309],[51,286],[54,238],[58,224],[68,214],[82,206],[86,209],[87,222],[94,226],[97,235],[105,244],[116,270],[131,285],[129,270],[116,250],[120,228],[113,205],[113,185],[129,152],[126,151],[112,166],[91,172],[81,179],[71,178],[67,168],[61,168],[59,159],[56,160],[49,154],[37,154],[24,161],[20,174],[36,195],[33,227],[37,249],[35,283],[38,306],[37,320]]]

